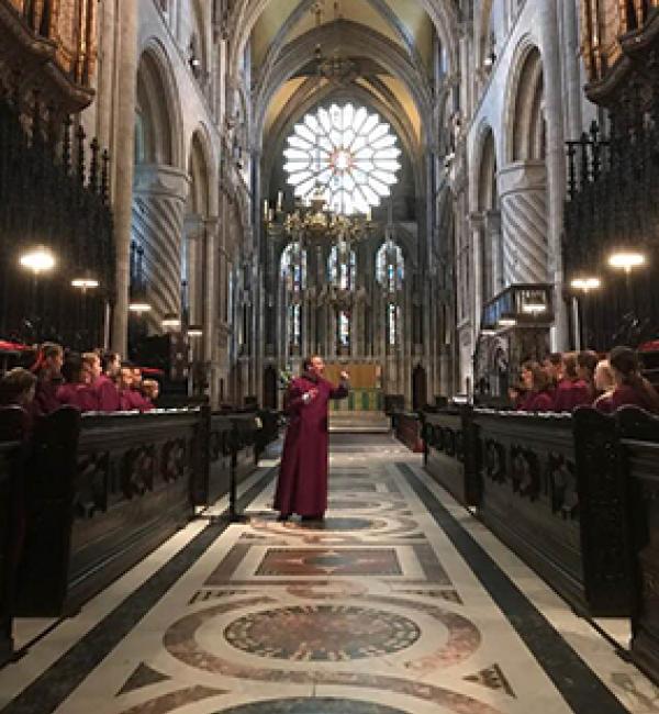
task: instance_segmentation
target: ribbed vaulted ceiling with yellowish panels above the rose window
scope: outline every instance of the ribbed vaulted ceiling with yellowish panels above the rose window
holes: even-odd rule
[[[268,146],[336,98],[369,103],[413,155],[428,141],[437,67],[455,51],[455,0],[246,0],[254,137]],[[340,71],[319,71],[317,59]],[[442,59],[444,57],[444,60]]]

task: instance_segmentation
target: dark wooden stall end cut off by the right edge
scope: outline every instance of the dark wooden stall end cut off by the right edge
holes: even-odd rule
[[[626,408],[618,414],[618,432],[621,479],[629,486],[632,658],[659,682],[659,419]]]

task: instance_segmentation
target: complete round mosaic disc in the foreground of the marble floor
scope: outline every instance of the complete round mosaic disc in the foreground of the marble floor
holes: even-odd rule
[[[402,615],[351,605],[269,610],[232,622],[226,640],[260,657],[346,661],[381,657],[413,645],[421,631]]]

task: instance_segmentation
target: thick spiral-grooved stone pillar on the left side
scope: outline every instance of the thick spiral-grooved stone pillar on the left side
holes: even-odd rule
[[[135,170],[133,233],[144,247],[144,277],[152,304],[149,322],[159,331],[165,313],[181,312],[181,254],[189,177],[171,166]]]

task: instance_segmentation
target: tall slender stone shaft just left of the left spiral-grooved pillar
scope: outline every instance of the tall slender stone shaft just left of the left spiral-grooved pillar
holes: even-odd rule
[[[112,315],[112,349],[126,354],[129,337],[129,283],[131,222],[135,154],[135,93],[137,88],[137,3],[124,2],[119,18],[120,59],[116,142],[114,149],[114,246],[116,302]]]

